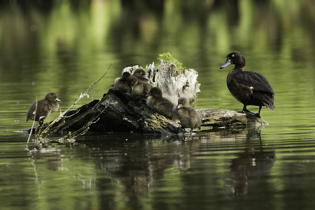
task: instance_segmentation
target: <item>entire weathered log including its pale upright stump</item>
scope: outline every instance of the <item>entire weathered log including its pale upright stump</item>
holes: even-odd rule
[[[133,71],[138,68],[129,67],[124,71]],[[151,84],[160,86],[163,95],[177,104],[179,97],[185,96],[194,102],[200,92],[197,81],[198,73],[193,70],[177,72],[172,63],[161,61],[154,68],[148,68]],[[263,119],[252,114],[238,113],[222,109],[199,109],[198,114],[202,126],[231,127],[231,126],[263,126]],[[71,110],[60,115],[53,123],[46,123],[36,127],[37,138],[46,138],[52,134],[67,133],[64,138],[73,138],[92,132],[138,132],[138,133],[178,133],[179,122],[158,114],[146,105],[144,97],[131,94],[122,94],[114,89],[109,89],[101,100],[93,100],[77,110]],[[26,130],[30,131],[30,129]]]

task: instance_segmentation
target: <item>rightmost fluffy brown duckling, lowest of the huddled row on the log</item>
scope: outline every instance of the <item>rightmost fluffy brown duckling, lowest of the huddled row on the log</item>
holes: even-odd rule
[[[182,128],[190,128],[191,133],[195,128],[201,129],[201,119],[196,110],[189,107],[184,97],[178,99],[178,105],[173,108],[173,118],[179,119]]]

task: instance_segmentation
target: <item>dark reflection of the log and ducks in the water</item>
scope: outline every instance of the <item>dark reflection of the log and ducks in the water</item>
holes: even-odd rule
[[[76,152],[71,152],[71,148],[76,148]],[[173,193],[179,197],[183,196],[181,193],[198,195],[203,186],[196,185],[196,191],[187,191],[184,186],[194,186],[196,182],[188,177],[206,179],[208,174],[219,171],[221,175],[215,178],[216,182],[227,182],[231,186],[227,187],[225,196],[232,193],[244,199],[257,189],[251,183],[267,176],[275,161],[273,142],[265,142],[259,132],[248,129],[222,129],[175,137],[130,134],[128,139],[125,134],[90,134],[78,138],[76,143],[65,145],[50,141],[30,145],[28,149],[39,189],[41,180],[46,179],[43,177],[46,173],[41,171],[44,164],[50,171],[69,171],[85,190],[101,196],[105,207],[109,203],[150,200],[159,192],[157,186],[164,182],[177,183],[178,191]],[[219,157],[224,158],[222,163],[211,161],[209,169],[200,168],[202,160]],[[80,161],[74,164],[73,158]],[[211,168],[217,168],[217,172]],[[173,187],[165,186],[165,193],[172,192]]]

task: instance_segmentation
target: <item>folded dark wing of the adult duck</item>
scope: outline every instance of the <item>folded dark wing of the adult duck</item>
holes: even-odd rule
[[[236,82],[246,85],[253,91],[264,91],[274,94],[268,80],[256,72],[239,72],[233,76]]]

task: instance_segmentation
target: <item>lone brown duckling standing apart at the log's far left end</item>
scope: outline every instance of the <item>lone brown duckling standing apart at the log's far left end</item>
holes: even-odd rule
[[[58,110],[59,104],[57,102],[61,101],[57,98],[55,93],[47,93],[45,99],[37,101],[37,109],[36,102],[34,102],[33,105],[30,106],[26,116],[26,123],[27,121],[29,121],[29,119],[34,119],[36,109],[35,121],[38,121],[40,126],[42,126],[44,123],[44,119],[46,119],[50,113]]]

